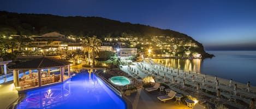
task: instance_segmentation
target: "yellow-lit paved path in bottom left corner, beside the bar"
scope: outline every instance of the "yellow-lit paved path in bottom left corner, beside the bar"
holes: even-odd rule
[[[0,108],[7,108],[19,97],[13,82],[7,82],[0,85]]]

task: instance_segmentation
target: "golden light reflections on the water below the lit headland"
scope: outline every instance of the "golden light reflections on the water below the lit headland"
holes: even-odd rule
[[[201,59],[152,59],[154,62],[161,63],[175,69],[182,69],[186,72],[200,73]]]

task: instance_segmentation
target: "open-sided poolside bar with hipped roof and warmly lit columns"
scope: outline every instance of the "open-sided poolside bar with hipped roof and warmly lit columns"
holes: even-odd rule
[[[10,66],[9,69],[13,70],[13,81],[18,91],[55,84],[70,78],[70,62],[47,57],[21,62]],[[65,69],[67,69],[66,75]],[[20,80],[19,72],[21,70],[23,76]],[[28,74],[25,71],[28,71]]]

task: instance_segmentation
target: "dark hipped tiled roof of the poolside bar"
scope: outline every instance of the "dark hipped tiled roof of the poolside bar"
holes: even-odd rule
[[[70,62],[49,59],[47,57],[41,57],[39,59],[34,59],[31,61],[17,63],[16,65],[9,66],[9,69],[43,69],[43,68],[53,68],[53,67],[61,67],[67,66]]]

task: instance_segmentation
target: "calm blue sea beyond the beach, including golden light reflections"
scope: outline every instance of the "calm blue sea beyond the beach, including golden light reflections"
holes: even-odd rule
[[[184,71],[233,79],[256,86],[256,51],[206,51],[215,56],[207,59],[153,59],[165,66]]]

